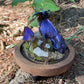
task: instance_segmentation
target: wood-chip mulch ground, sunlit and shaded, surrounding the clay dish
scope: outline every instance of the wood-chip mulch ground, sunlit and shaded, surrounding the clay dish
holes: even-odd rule
[[[0,84],[84,84],[84,29],[71,41],[75,48],[76,56],[72,67],[66,73],[34,81],[29,73],[21,70],[14,59],[14,47],[9,45],[14,46],[22,39],[24,26],[27,25],[28,17],[33,13],[34,9],[28,6],[29,2],[20,3],[14,7],[11,6],[11,2],[12,0],[0,0]],[[84,1],[80,0],[79,4],[69,3],[68,5],[61,3],[60,7],[65,11],[69,7],[82,9],[81,13],[73,14],[76,16],[78,14],[76,18],[72,16],[74,19],[69,19],[71,16],[67,15],[70,13],[67,15],[63,13],[68,18],[62,17],[63,21],[61,23],[66,22],[66,24],[55,23],[59,18],[54,18],[52,21],[57,28],[59,27],[58,31],[63,37],[70,39],[84,25]],[[66,11],[65,13],[68,12]],[[37,29],[33,28],[33,31]]]

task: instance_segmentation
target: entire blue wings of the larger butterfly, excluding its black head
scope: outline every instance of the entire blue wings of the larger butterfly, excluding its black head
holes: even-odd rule
[[[57,32],[56,28],[48,19],[44,19],[40,22],[39,31],[45,39],[51,39],[54,49],[60,53],[65,52],[67,45],[64,38]]]

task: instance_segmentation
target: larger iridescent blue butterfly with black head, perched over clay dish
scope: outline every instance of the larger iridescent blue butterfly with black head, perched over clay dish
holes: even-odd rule
[[[64,53],[67,49],[64,38],[57,32],[54,25],[48,19],[51,16],[50,11],[37,12],[33,16],[37,16],[39,22],[39,32],[45,39],[51,39],[53,48],[60,53]]]

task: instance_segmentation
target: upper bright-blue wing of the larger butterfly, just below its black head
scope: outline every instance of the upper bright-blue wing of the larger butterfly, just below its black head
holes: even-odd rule
[[[39,31],[46,39],[53,38],[58,34],[56,28],[48,19],[42,20],[40,23]]]

